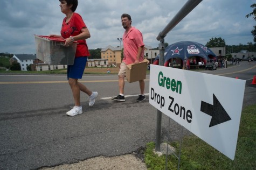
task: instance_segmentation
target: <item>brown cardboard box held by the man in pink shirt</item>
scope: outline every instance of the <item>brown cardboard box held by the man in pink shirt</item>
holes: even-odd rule
[[[126,79],[129,83],[146,79],[148,60],[127,65]]]

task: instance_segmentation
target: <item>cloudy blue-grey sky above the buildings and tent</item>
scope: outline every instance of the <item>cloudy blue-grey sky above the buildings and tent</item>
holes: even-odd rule
[[[132,16],[132,25],[143,34],[144,44],[158,47],[156,37],[187,0],[80,0],[77,11],[84,19],[91,38],[89,49],[120,46],[122,13]],[[203,0],[165,37],[165,42],[197,41],[206,44],[221,37],[226,45],[253,42],[255,20],[246,18],[255,0]],[[58,0],[0,0],[0,53],[36,53],[34,34],[60,34],[65,15]]]

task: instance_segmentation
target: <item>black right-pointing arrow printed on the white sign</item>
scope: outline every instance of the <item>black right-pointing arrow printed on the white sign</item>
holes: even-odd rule
[[[201,111],[212,117],[209,127],[230,121],[231,118],[213,94],[213,105],[201,101]]]

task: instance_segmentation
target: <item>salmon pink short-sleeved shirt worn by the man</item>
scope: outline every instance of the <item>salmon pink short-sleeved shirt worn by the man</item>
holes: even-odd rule
[[[144,47],[142,33],[131,27],[128,33],[123,33],[123,61],[126,65],[134,63],[138,53],[138,48]],[[144,49],[142,50],[139,61],[144,60]]]

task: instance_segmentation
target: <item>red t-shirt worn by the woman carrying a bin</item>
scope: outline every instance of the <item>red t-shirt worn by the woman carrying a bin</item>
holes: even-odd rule
[[[66,17],[63,19],[60,34],[64,38],[68,38],[70,36],[77,36],[81,33],[81,29],[84,27],[86,27],[84,20],[82,20],[82,17],[78,13],[74,12],[68,23],[66,23]],[[89,55],[90,53],[86,44],[86,40],[78,40],[75,57],[77,58],[79,56]]]

